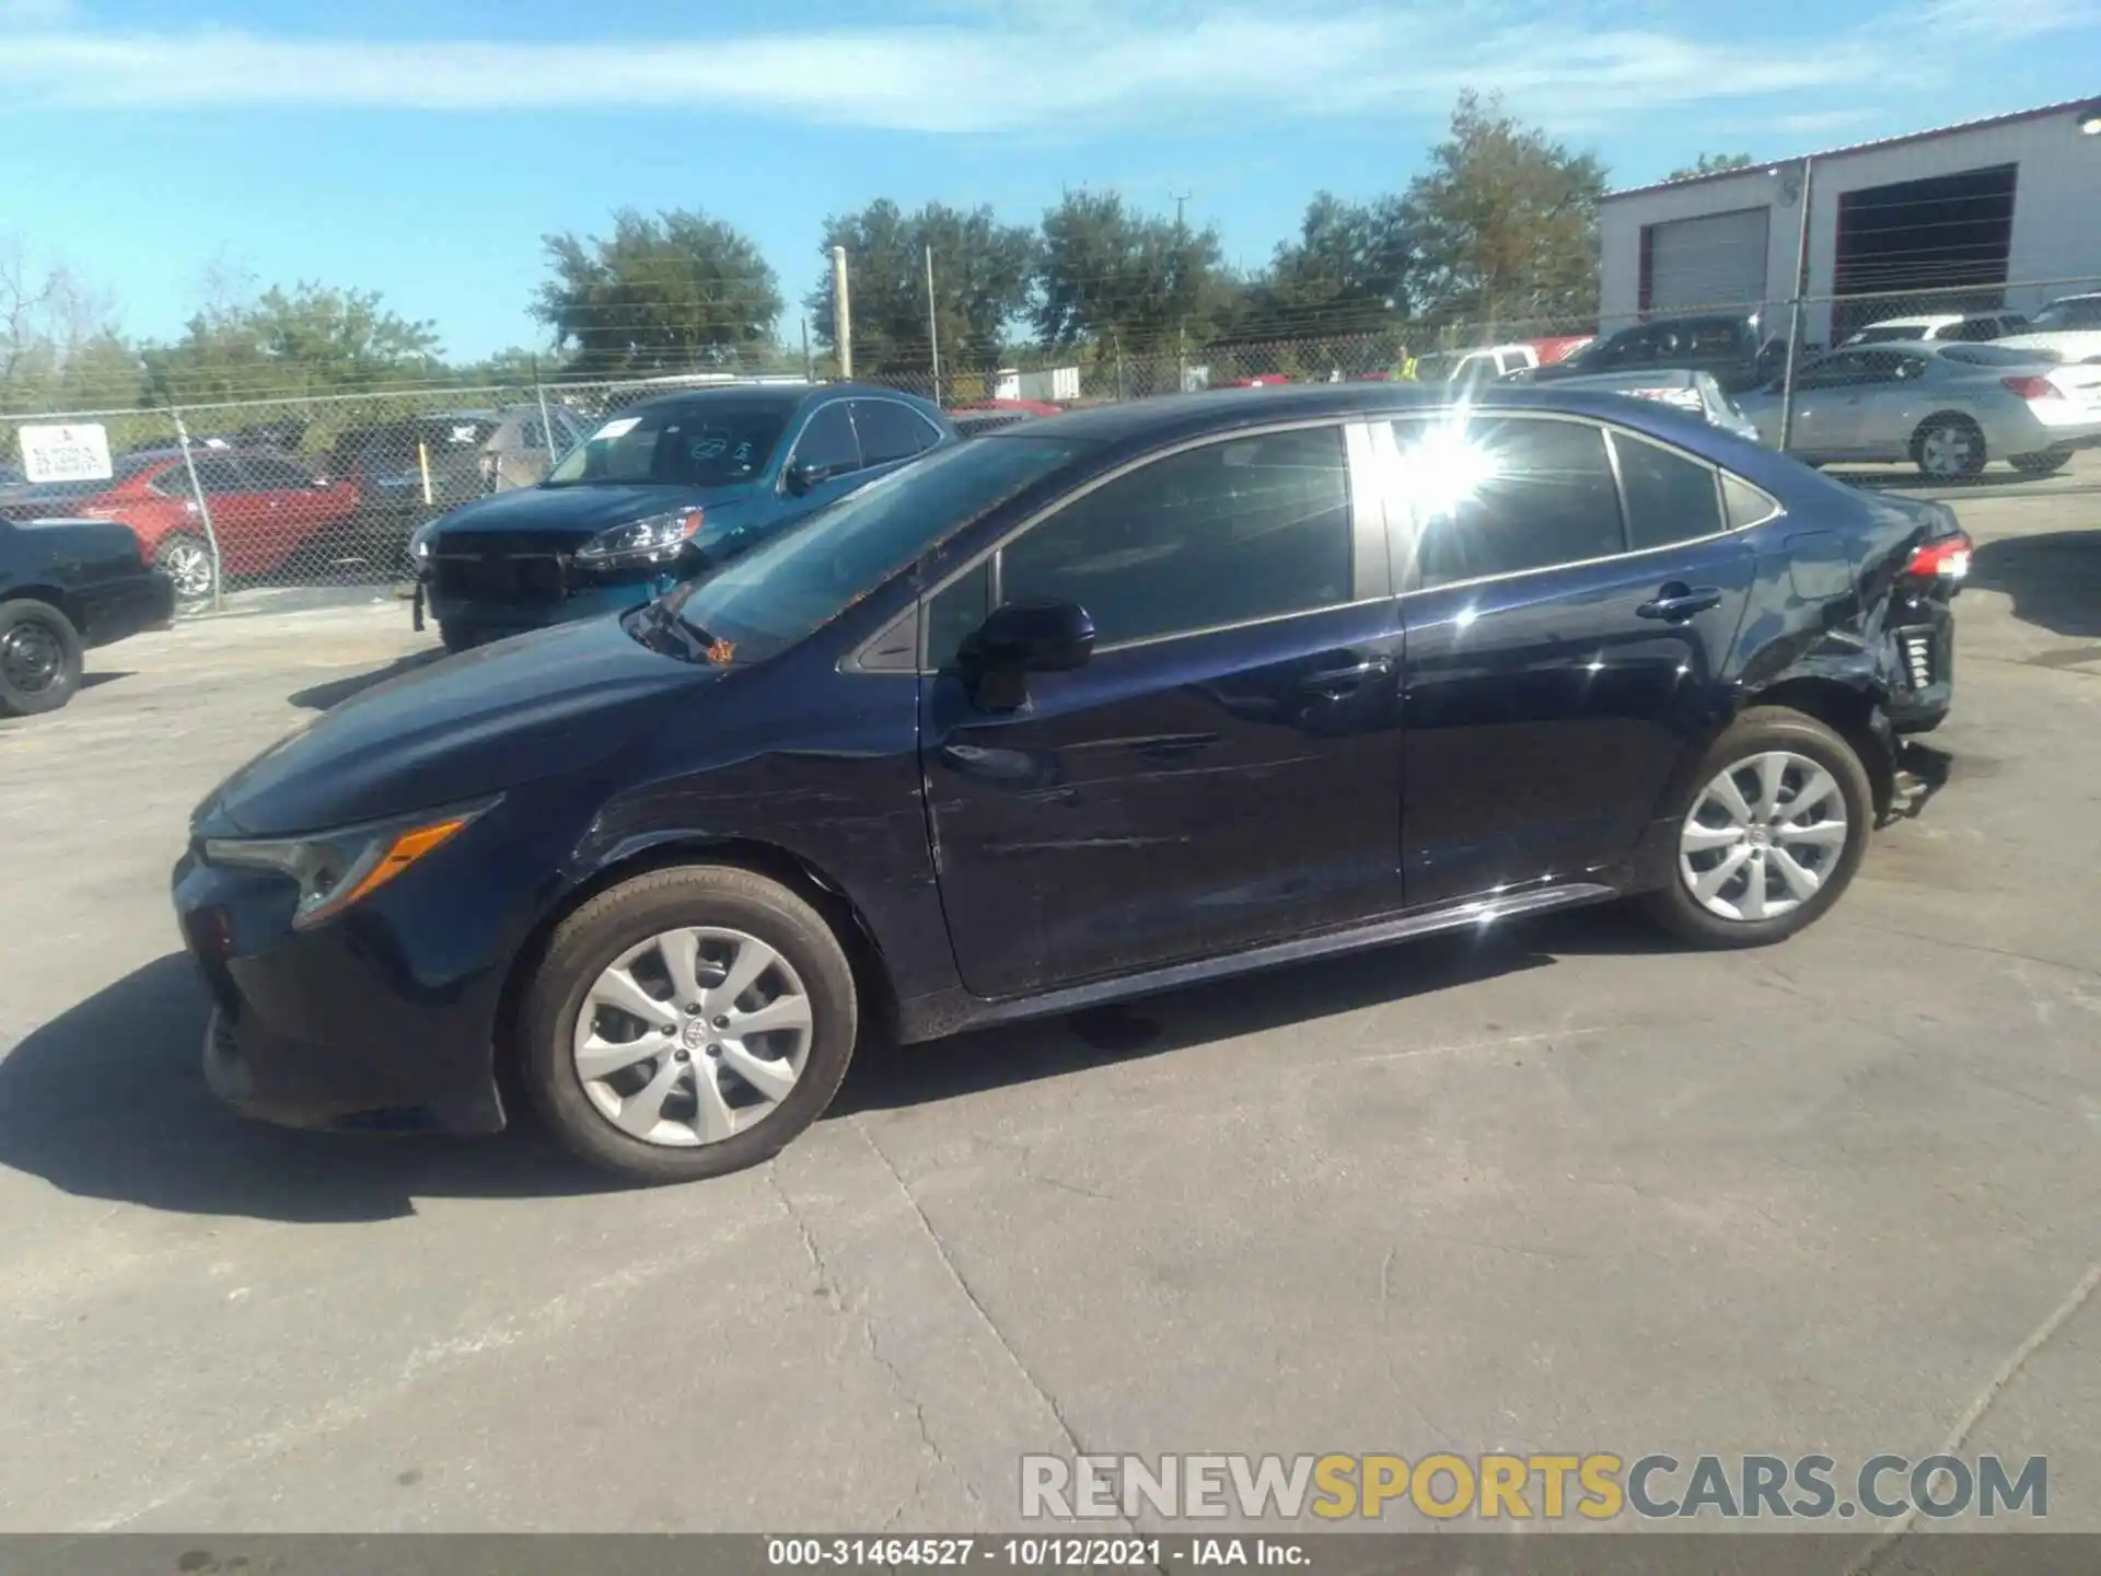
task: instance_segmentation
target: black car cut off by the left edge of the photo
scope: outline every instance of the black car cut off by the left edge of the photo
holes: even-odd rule
[[[105,519],[0,519],[0,717],[55,712],[82,651],[174,618],[174,584]]]

